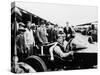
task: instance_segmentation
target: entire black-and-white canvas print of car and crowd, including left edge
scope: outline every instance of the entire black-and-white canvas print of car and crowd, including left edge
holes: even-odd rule
[[[11,3],[11,72],[97,69],[98,8]]]

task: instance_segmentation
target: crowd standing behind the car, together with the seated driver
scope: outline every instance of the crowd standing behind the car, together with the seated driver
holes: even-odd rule
[[[66,53],[66,46],[71,38],[75,37],[74,29],[69,26],[69,22],[66,22],[65,27],[59,27],[59,25],[48,25],[44,21],[40,22],[40,25],[35,25],[31,21],[17,23],[16,32],[16,47],[18,56],[22,60],[25,56],[31,56],[35,54],[36,50],[42,45],[47,43],[53,43],[49,48],[51,60],[53,60],[53,52],[66,57],[73,52]]]

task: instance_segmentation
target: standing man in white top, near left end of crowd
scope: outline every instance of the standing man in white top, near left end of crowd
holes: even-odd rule
[[[34,40],[34,36],[33,36],[33,31],[31,28],[31,24],[32,24],[31,21],[27,21],[26,32],[24,33],[25,46],[27,49],[28,56],[33,54],[33,46],[35,46],[35,40]]]

